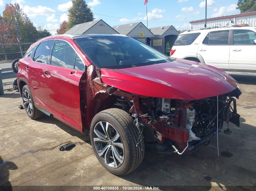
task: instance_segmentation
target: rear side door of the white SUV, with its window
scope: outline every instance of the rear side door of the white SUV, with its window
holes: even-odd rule
[[[198,54],[204,59],[205,64],[228,70],[230,30],[209,32],[199,43]]]

